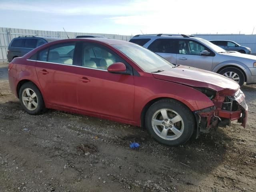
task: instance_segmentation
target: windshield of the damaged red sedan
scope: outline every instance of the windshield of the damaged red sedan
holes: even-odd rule
[[[154,52],[136,44],[115,44],[115,48],[124,53],[146,72],[169,70],[174,67],[164,58]]]

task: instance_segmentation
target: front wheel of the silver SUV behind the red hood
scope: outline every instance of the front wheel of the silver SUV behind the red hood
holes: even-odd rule
[[[227,78],[230,78],[234,81],[236,81],[240,87],[244,85],[244,74],[243,72],[235,67],[228,67],[222,69],[219,74],[226,76]]]

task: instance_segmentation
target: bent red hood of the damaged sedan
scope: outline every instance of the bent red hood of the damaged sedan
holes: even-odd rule
[[[214,72],[189,67],[177,66],[170,70],[152,73],[154,78],[185,84],[193,87],[210,88],[226,94],[234,94],[240,86],[233,80]]]

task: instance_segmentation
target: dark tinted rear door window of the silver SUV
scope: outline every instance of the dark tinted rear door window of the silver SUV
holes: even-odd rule
[[[176,53],[176,39],[160,38],[154,40],[148,49],[156,53]]]

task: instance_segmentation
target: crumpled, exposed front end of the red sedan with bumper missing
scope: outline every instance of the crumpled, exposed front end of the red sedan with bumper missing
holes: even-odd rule
[[[230,92],[229,92],[230,93]],[[201,132],[210,132],[218,126],[226,126],[237,120],[245,127],[248,117],[248,106],[244,93],[239,89],[232,96],[226,90],[216,92],[212,96],[214,106],[197,110],[194,113],[198,118],[198,127]]]

